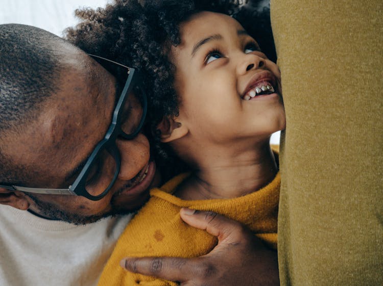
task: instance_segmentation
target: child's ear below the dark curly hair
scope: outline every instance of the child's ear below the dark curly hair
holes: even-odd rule
[[[157,130],[161,133],[161,142],[167,143],[184,137],[189,129],[185,124],[176,121],[177,117],[164,116],[157,125]]]

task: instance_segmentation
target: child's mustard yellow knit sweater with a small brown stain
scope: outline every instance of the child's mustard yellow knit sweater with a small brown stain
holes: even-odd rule
[[[119,261],[125,256],[195,257],[206,254],[217,244],[216,237],[188,226],[179,215],[181,207],[209,210],[247,225],[256,236],[276,248],[279,173],[266,187],[232,199],[187,201],[171,192],[188,174],[170,180],[151,191],[151,199],[128,224],[101,275],[99,286],[176,285],[174,282],[123,270]]]

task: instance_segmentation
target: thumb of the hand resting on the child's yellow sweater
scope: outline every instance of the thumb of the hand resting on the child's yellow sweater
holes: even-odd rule
[[[219,243],[233,243],[240,240],[244,227],[237,221],[208,211],[196,211],[183,207],[180,216],[190,226],[204,229],[218,238]]]

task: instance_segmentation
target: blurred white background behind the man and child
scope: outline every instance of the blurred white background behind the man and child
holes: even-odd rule
[[[0,0],[0,24],[20,23],[33,25],[62,36],[65,28],[78,20],[77,8],[97,8],[111,0]],[[279,144],[280,132],[271,137],[272,144]]]

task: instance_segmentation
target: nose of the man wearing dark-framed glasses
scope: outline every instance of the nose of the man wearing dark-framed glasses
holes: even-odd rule
[[[148,139],[143,134],[138,134],[131,140],[118,138],[116,145],[121,155],[118,179],[130,180],[149,162],[150,148]]]

